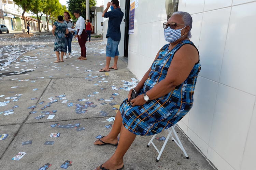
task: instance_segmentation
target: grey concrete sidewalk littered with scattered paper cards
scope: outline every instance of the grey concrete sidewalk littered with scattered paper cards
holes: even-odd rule
[[[62,169],[60,166],[66,161],[72,161],[72,166],[67,169],[74,170],[92,170],[104,163],[114,153],[114,146],[95,146],[93,142],[98,135],[107,135],[111,128],[105,128],[108,122],[106,119],[115,116],[116,111],[113,107],[119,107],[120,103],[127,97],[128,91],[123,89],[112,90],[111,86],[116,88],[123,87],[125,80],[131,82],[133,74],[127,69],[126,58],[119,57],[118,70],[110,72],[98,72],[105,65],[105,44],[103,41],[91,41],[86,43],[87,60],[79,61],[76,58],[80,56],[80,47],[77,42],[72,42],[73,58],[68,58],[62,63],[53,63],[56,60],[53,51],[54,44],[45,45],[44,48],[38,48],[28,51],[19,57],[19,60],[13,62],[3,71],[0,71],[1,90],[0,101],[10,100],[6,106],[0,107],[0,113],[12,109],[14,114],[5,116],[0,114],[0,134],[9,134],[5,140],[0,140],[0,169],[1,170],[38,170],[46,163],[52,164],[49,170]],[[112,61],[113,63],[113,61]],[[30,70],[24,74],[22,70]],[[92,70],[92,71],[88,71]],[[13,73],[11,76],[4,74]],[[19,73],[19,74],[17,74]],[[8,74],[10,75],[10,74]],[[97,76],[97,77],[96,77]],[[28,80],[29,79],[29,80]],[[103,80],[102,80],[103,79]],[[26,80],[26,81],[24,81]],[[27,81],[28,80],[28,81]],[[107,82],[103,82],[107,81]],[[17,86],[16,88],[11,88]],[[38,90],[33,91],[32,89]],[[104,89],[102,89],[104,88]],[[87,97],[93,95],[94,97]],[[112,94],[119,95],[113,96]],[[18,97],[15,94],[23,94],[18,101],[5,99],[6,97]],[[73,103],[68,107],[67,103],[61,103],[63,100],[55,96],[66,95],[67,103]],[[41,110],[50,100],[48,98],[58,99],[51,106]],[[105,102],[105,99],[115,97],[111,102]],[[31,100],[32,98],[36,98]],[[104,100],[98,100],[103,98]],[[84,105],[87,101],[77,101],[78,99],[89,99],[94,102],[96,107],[88,107],[86,113],[77,114],[75,112],[76,104]],[[40,102],[43,102],[40,104]],[[110,103],[116,103],[111,106]],[[34,109],[28,109],[35,105]],[[47,119],[45,115],[42,119],[35,119],[39,115],[44,115],[41,111],[54,111],[57,113],[53,119]],[[30,111],[37,113],[30,114]],[[101,116],[101,111],[108,113],[107,116]],[[80,123],[82,131],[76,131],[75,128],[63,129],[51,125],[58,123],[60,125]],[[158,155],[153,146],[146,147],[151,136],[137,136],[132,146],[124,158],[125,170],[213,170],[209,162],[194,147],[189,139],[176,127],[176,131],[183,143],[183,146],[189,156],[186,159],[182,150],[171,140],[167,143],[159,162],[155,162]],[[60,137],[50,138],[51,133],[60,133]],[[167,132],[158,134],[158,137],[166,136]],[[22,146],[22,142],[32,140],[32,144]],[[55,141],[53,145],[44,145],[46,141]],[[159,148],[164,141],[157,141],[155,144]],[[19,152],[27,154],[19,161],[12,158]]]

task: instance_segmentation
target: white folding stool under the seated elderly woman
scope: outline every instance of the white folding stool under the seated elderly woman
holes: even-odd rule
[[[172,138],[172,141],[174,141],[174,142],[177,144],[177,146],[179,146],[179,147],[181,148],[181,150],[183,151],[184,155],[185,155],[186,158],[188,159],[188,155],[187,155],[187,153],[186,153],[184,147],[182,146],[182,143],[181,143],[181,141],[180,141],[180,139],[179,139],[177,133],[176,133],[175,130],[174,130],[175,126],[176,126],[176,124],[174,124],[173,126],[171,126],[171,128],[167,129],[167,130],[169,131],[169,133],[168,133],[168,135],[167,135],[167,137],[166,137],[166,139],[165,139],[165,143],[163,143],[163,146],[162,146],[162,148],[161,148],[161,151],[159,151],[159,150],[157,149],[157,147],[155,146],[155,144],[154,144],[154,142],[153,142],[153,140],[155,139],[156,135],[154,135],[154,136],[151,138],[150,142],[148,142],[147,147],[149,147],[150,144],[152,143],[152,145],[155,147],[156,151],[158,152],[158,156],[157,156],[157,158],[156,158],[156,162],[159,161],[160,156],[161,156],[161,154],[163,153],[163,150],[165,149],[166,143],[168,142],[168,140],[169,140],[170,137]],[[172,133],[174,134],[176,140],[173,138]]]

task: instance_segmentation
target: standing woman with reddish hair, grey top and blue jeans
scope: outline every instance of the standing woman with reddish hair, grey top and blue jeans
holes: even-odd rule
[[[69,15],[68,12],[64,12],[64,23],[66,23],[68,25],[68,28],[74,28],[74,25],[73,25],[73,22],[70,20],[71,17]],[[67,59],[67,50],[68,50],[68,47],[69,47],[69,58],[72,58],[72,55],[70,54],[71,53],[71,42],[72,42],[72,39],[73,39],[73,34],[69,31],[68,34],[66,34],[66,38],[65,38],[65,49],[66,49],[66,52],[64,53],[64,58]]]

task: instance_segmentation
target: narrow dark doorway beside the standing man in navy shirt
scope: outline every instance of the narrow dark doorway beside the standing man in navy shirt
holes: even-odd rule
[[[130,14],[130,0],[125,1],[125,40],[124,40],[124,57],[128,57],[129,46],[129,14]]]

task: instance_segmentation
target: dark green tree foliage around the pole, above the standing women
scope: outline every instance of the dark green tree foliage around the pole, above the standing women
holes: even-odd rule
[[[67,2],[67,4],[68,4],[68,9],[69,9],[69,14],[70,14],[70,16],[71,16],[71,18],[72,18],[73,20],[76,20],[74,14],[73,14],[73,12],[74,12],[75,10],[80,11],[80,12],[81,12],[81,16],[82,16],[84,19],[86,19],[86,18],[85,18],[85,16],[86,16],[86,11],[85,11],[86,4],[85,4],[85,0],[69,0],[69,1]],[[91,12],[91,7],[92,7],[92,6],[95,6],[96,4],[97,4],[97,1],[96,1],[96,0],[89,0],[89,7],[90,7],[90,12],[89,12],[89,14],[90,14],[90,19],[94,18],[93,13]]]

